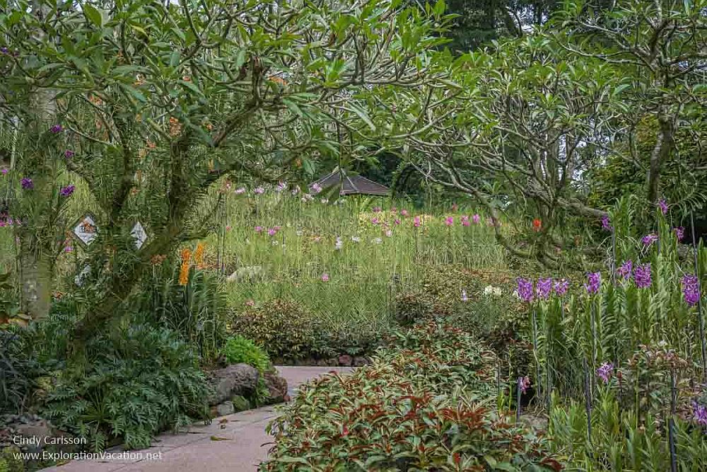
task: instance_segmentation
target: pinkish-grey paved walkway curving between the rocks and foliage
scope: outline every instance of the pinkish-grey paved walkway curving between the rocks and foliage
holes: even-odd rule
[[[296,388],[317,376],[349,367],[277,367],[287,379],[290,396]],[[271,447],[265,433],[268,422],[277,416],[274,407],[243,411],[214,419],[210,425],[197,424],[189,432],[162,434],[153,447],[132,451],[130,456],[73,461],[46,472],[253,472]],[[270,443],[270,444],[269,444]],[[111,450],[119,453],[119,449]]]

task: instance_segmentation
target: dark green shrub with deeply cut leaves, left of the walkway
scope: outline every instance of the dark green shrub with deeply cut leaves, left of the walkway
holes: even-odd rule
[[[59,376],[42,414],[94,450],[113,439],[148,447],[157,432],[207,416],[198,359],[170,330],[138,325],[98,336],[86,358],[90,364],[74,362]]]

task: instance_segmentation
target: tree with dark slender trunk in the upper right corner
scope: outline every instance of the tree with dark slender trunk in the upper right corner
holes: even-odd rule
[[[645,171],[646,195],[660,199],[660,175],[674,157],[680,127],[691,116],[703,115],[706,102],[707,18],[704,0],[621,0],[603,3],[573,1],[561,16],[564,47],[578,57],[591,57],[617,69],[630,87],[628,128],[636,129],[646,115],[657,127],[647,168],[633,153],[633,163]],[[636,147],[632,146],[635,150]]]

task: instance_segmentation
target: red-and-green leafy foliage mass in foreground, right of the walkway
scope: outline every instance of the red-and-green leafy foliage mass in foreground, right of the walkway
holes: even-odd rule
[[[373,364],[303,386],[269,426],[266,471],[559,470],[542,441],[483,405],[493,355],[437,323],[398,335]]]

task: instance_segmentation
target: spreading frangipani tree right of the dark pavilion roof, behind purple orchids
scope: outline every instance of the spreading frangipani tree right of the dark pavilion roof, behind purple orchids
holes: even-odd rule
[[[496,224],[509,251],[556,263],[565,214],[604,216],[579,190],[590,156],[606,146],[621,110],[619,78],[596,59],[575,61],[547,35],[527,35],[453,60],[450,81],[409,97],[406,159],[429,179],[467,192],[499,221],[503,201],[526,201],[542,219],[525,251]],[[401,127],[404,128],[403,124]]]

